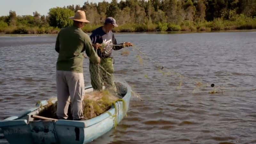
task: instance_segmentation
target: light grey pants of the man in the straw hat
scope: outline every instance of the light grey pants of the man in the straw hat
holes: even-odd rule
[[[73,119],[83,118],[84,75],[71,71],[56,71],[57,117],[68,118],[68,105],[71,100]],[[70,97],[69,97],[70,96]]]

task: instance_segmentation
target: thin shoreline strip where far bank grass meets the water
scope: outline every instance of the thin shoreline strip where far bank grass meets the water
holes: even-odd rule
[[[239,29],[239,30],[217,30],[217,31],[165,31],[165,32],[114,32],[115,34],[189,34],[189,33],[220,33],[220,32],[255,32],[256,29]],[[91,34],[91,33],[87,33]],[[16,37],[16,36],[57,36],[57,34],[4,34],[0,33],[0,37]]]

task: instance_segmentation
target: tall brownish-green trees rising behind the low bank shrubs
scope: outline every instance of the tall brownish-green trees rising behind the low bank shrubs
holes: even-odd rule
[[[69,5],[68,9],[86,11],[93,24],[100,24],[106,17],[114,17],[118,23],[180,24],[184,20],[212,21],[214,18],[229,20],[235,14],[256,16],[256,0],[112,0],[96,3],[85,2]]]

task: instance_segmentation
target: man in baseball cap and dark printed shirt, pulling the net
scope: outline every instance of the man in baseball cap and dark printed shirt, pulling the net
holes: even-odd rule
[[[116,38],[112,32],[114,27],[118,27],[116,20],[112,17],[108,17],[105,20],[104,26],[93,30],[90,36],[92,44],[100,57],[100,66],[90,62],[91,84],[94,90],[101,91],[102,83],[104,83],[105,87],[116,92],[113,79],[114,68],[113,58],[111,57],[112,50],[120,50],[124,47],[132,46],[130,42],[117,44]],[[106,42],[108,43],[106,44]]]

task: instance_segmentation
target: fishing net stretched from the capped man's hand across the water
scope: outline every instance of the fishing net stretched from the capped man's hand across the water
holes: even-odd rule
[[[255,91],[255,89],[228,89],[226,85],[217,85],[213,83],[209,83],[209,81],[205,81],[201,79],[200,77],[195,76],[185,76],[180,74],[177,71],[174,71],[170,68],[167,68],[164,66],[164,63],[159,60],[154,60],[153,58],[146,55],[144,52],[142,52],[140,47],[133,46],[132,49],[129,49],[132,51],[137,52],[136,58],[140,64],[140,67],[143,67],[142,69],[149,69],[145,68],[144,65],[150,65],[153,66],[153,70],[157,70],[159,73],[161,73],[164,77],[164,79],[161,81],[162,83],[164,81],[167,82],[167,84],[175,85],[175,89],[179,90],[182,88],[186,88],[189,92],[192,93],[198,93],[198,92],[207,92],[210,94],[215,93],[223,93],[228,91]],[[147,62],[147,64],[144,64]],[[146,72],[146,71],[143,71]],[[154,73],[151,71],[151,73]],[[146,79],[152,79],[153,77],[149,77],[147,74],[144,75]],[[167,77],[167,78],[166,78]],[[173,82],[170,83],[170,80]],[[176,84],[174,84],[176,83]]]

